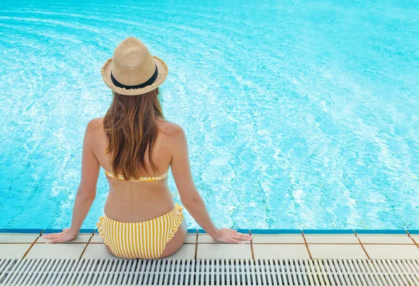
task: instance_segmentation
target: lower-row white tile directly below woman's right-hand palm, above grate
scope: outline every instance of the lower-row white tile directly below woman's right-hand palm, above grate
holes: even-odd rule
[[[237,258],[251,259],[250,243],[198,243],[196,258]]]

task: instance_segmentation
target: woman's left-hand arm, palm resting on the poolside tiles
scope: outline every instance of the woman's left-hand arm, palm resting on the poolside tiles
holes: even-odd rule
[[[48,234],[43,236],[45,239],[52,239],[48,242],[64,242],[71,241],[78,235],[84,218],[91,204],[96,197],[96,183],[98,182],[99,164],[96,156],[91,150],[91,144],[94,142],[94,132],[96,124],[95,119],[87,124],[86,132],[84,133],[83,140],[83,153],[82,153],[82,178],[78,187],[77,194],[73,206],[73,220],[69,229],[64,229],[59,234]]]

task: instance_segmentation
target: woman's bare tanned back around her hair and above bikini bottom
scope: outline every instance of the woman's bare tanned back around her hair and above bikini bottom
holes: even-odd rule
[[[103,129],[103,117],[94,119],[95,129],[91,149],[103,169],[112,172],[110,156],[105,154],[108,139]],[[149,165],[148,149],[145,154],[145,165],[149,173],[142,170],[140,176],[160,176],[170,167],[172,149],[170,136],[177,132],[179,126],[163,119],[157,120],[159,135],[153,148],[153,162],[159,171],[153,172]],[[105,215],[113,220],[126,223],[152,220],[168,213],[175,206],[172,193],[168,188],[168,178],[159,181],[131,182],[122,181],[107,176],[109,183],[108,199],[105,203]]]

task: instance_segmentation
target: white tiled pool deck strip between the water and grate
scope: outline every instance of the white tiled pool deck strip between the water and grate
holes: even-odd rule
[[[1,231],[0,259],[117,258],[108,253],[94,229],[83,231],[68,243],[45,243],[43,234],[58,229],[25,232]],[[418,231],[334,233],[295,229],[274,234],[240,229],[253,236],[244,244],[217,243],[202,229],[188,232],[184,245],[166,259],[419,259]]]

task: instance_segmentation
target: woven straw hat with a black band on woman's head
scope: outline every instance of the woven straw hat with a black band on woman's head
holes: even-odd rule
[[[168,76],[168,66],[152,56],[138,38],[128,37],[115,48],[101,69],[103,81],[124,96],[137,96],[156,89]]]

